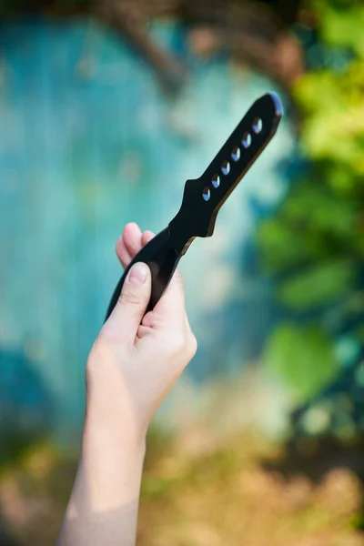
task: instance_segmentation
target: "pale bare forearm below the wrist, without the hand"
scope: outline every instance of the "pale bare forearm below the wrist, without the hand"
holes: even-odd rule
[[[89,400],[82,456],[57,546],[133,546],[144,439],[104,400]]]

